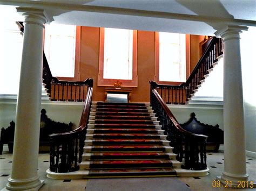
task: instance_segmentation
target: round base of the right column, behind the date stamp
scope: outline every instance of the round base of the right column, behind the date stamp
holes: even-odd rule
[[[223,173],[221,176],[217,176],[216,180],[219,180],[225,187],[230,188],[256,188],[255,182],[248,179],[248,174],[237,175]]]

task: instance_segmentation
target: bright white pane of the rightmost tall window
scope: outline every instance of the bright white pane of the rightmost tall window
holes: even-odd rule
[[[159,81],[186,81],[186,35],[159,32]]]

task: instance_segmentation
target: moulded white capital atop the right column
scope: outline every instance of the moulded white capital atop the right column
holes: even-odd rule
[[[216,31],[214,34],[216,37],[220,36],[225,41],[229,39],[240,39],[240,33],[247,30],[247,26],[227,25],[223,29]]]

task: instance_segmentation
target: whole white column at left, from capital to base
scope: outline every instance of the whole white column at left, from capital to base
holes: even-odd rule
[[[12,172],[6,189],[39,189],[37,175],[42,92],[43,10],[17,8],[25,17]]]

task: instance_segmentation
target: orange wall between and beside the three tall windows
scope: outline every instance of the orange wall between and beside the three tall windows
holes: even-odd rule
[[[80,81],[87,77],[93,77],[93,100],[104,101],[104,88],[97,86],[97,76],[99,67],[99,31],[98,27],[82,26],[80,40]],[[194,38],[192,37],[194,40]],[[195,38],[199,42],[199,38]],[[199,43],[198,43],[199,47]],[[138,52],[137,52],[137,71],[138,87],[132,89],[131,102],[149,102],[150,84],[154,79],[154,32],[138,31]],[[191,45],[191,51],[197,49],[196,43]],[[191,59],[199,59],[199,49],[196,56]],[[194,51],[195,52],[195,51]],[[198,56],[197,56],[198,55]],[[198,61],[198,60],[197,60]]]

